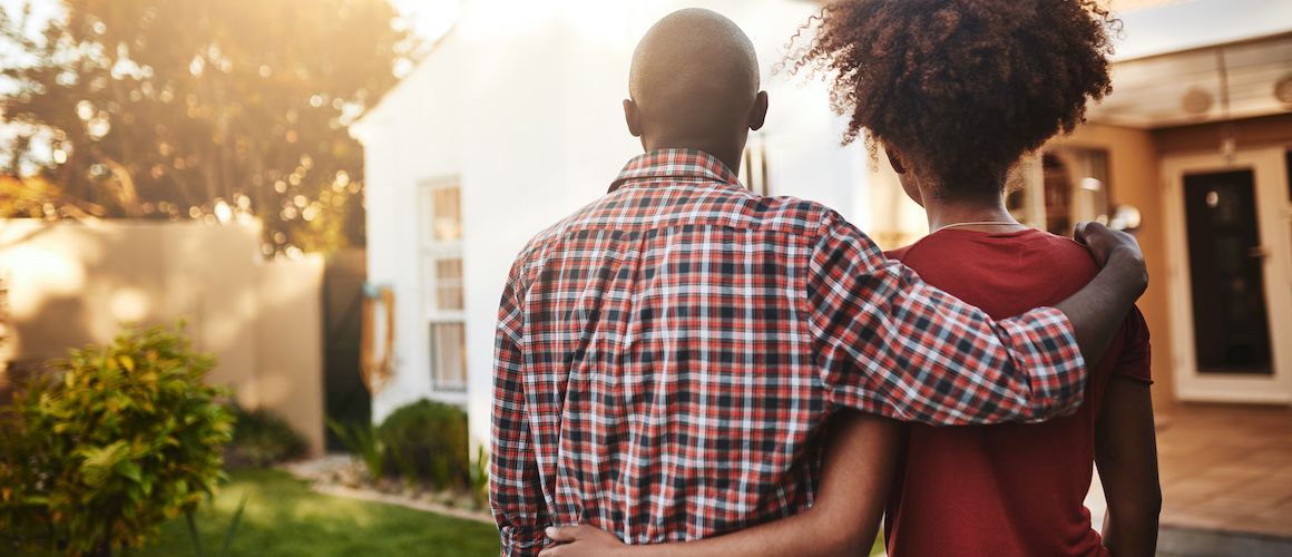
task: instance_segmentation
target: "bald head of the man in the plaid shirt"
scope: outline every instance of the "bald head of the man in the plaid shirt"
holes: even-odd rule
[[[748,129],[761,127],[766,111],[753,43],[731,19],[698,8],[673,12],[646,31],[633,53],[628,93],[634,136],[698,143],[667,146],[712,150],[705,143],[738,134],[743,150]]]

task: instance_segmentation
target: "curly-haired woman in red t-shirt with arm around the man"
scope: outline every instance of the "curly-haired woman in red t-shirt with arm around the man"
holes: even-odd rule
[[[890,257],[1006,318],[1056,304],[1094,277],[1084,248],[1016,221],[1004,194],[1025,154],[1071,132],[1087,101],[1111,90],[1107,32],[1115,25],[1093,1],[835,1],[791,43],[791,70],[832,75],[832,105],[849,116],[845,142],[864,134],[872,156],[882,149],[928,212],[933,233]],[[882,424],[901,434],[876,434],[873,419],[840,414],[815,505],[801,514],[649,547],[562,527],[552,538],[566,544],[549,553],[857,554],[886,507],[891,556],[1150,556],[1162,495],[1149,355],[1134,310],[1092,366],[1087,402],[1072,416]],[[857,469],[862,455],[875,463],[876,451],[891,459]],[[1109,503],[1102,535],[1083,503],[1094,465]]]

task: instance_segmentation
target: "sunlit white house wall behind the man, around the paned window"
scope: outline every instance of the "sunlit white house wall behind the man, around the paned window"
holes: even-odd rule
[[[820,84],[774,78],[813,3],[709,1],[755,40],[771,114],[773,194],[864,218],[866,155],[841,149],[844,123]],[[641,152],[623,124],[637,40],[678,1],[474,1],[413,75],[355,128],[366,146],[370,282],[397,296],[397,372],[373,417],[419,398],[465,403],[488,438],[494,323],[503,283],[535,233],[602,195]],[[433,393],[421,311],[416,185],[461,178],[468,393]]]

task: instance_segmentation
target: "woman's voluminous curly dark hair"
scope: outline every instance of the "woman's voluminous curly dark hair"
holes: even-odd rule
[[[1109,31],[1079,0],[841,0],[791,40],[791,74],[832,76],[831,105],[938,181],[942,196],[999,195],[1025,154],[1112,90]],[[806,43],[806,44],[805,44]]]

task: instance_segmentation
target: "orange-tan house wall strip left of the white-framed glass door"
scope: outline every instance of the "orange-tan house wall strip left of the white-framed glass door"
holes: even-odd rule
[[[1159,414],[1169,412],[1174,407],[1174,377],[1168,330],[1165,215],[1152,134],[1142,129],[1085,124],[1052,145],[1107,150],[1111,204],[1130,204],[1141,212],[1137,239],[1149,264],[1150,283],[1138,305],[1152,336],[1152,402]]]

